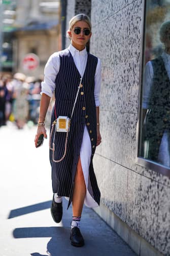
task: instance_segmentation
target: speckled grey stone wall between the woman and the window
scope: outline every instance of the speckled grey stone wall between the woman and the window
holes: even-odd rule
[[[101,203],[170,255],[169,178],[136,163],[142,15],[142,0],[92,1],[90,52],[102,62],[94,167]]]

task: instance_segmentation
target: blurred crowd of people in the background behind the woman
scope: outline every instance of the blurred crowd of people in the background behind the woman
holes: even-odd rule
[[[7,121],[22,129],[28,121],[37,123],[41,78],[26,77],[23,73],[0,75],[0,127]]]

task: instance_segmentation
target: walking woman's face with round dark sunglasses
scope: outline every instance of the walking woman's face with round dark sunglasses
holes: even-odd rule
[[[76,29],[76,30],[75,30]],[[81,32],[80,32],[81,29]],[[90,27],[89,25],[83,21],[77,21],[74,26],[73,29],[71,31],[69,31],[69,36],[72,39],[72,45],[78,49],[78,50],[83,50],[87,44],[87,42],[89,41],[90,37],[91,37],[91,32],[90,31]],[[80,32],[80,34],[76,34]],[[89,33],[89,35],[87,35]]]

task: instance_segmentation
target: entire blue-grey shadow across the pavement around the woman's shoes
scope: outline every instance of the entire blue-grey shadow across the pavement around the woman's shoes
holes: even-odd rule
[[[51,207],[51,201],[33,204],[32,206],[11,210],[9,218],[17,217],[26,213],[41,211]],[[70,242],[70,222],[72,218],[72,206],[66,210],[67,200],[63,198],[63,218],[59,226],[32,226],[16,227],[13,230],[15,239],[49,238],[46,245],[46,254],[37,251],[31,252],[32,256],[135,256],[136,254],[128,245],[92,210],[83,209],[83,221],[81,232],[85,239],[83,247],[74,247]],[[49,218],[51,216],[49,215]],[[48,218],[48,215],[47,215]],[[52,218],[52,217],[51,217]],[[42,219],[43,222],[43,219]],[[33,224],[33,222],[32,222]],[[54,224],[55,225],[55,224]],[[43,242],[44,240],[42,240]],[[42,252],[44,253],[44,252]]]

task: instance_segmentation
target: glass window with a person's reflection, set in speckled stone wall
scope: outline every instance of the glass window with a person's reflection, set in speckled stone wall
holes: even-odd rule
[[[147,0],[139,154],[170,167],[170,1]]]

